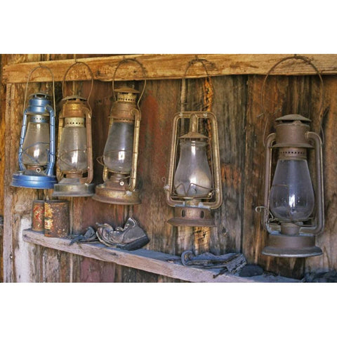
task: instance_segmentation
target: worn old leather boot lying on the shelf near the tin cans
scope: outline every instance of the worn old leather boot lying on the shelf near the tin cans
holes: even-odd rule
[[[115,229],[107,223],[98,224],[96,234],[105,246],[126,249],[127,251],[140,249],[150,242],[147,234],[133,218],[128,218],[124,227],[116,227]]]

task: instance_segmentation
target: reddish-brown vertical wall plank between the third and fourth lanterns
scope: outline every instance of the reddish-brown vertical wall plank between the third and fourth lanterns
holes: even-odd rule
[[[133,216],[150,238],[147,249],[173,253],[173,227],[165,222],[173,208],[166,203],[163,177],[169,162],[169,140],[176,113],[180,81],[148,81],[141,101],[137,179],[142,204],[133,206]]]

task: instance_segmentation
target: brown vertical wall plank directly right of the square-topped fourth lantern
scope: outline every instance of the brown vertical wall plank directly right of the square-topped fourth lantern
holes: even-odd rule
[[[246,122],[246,77],[213,78],[213,113],[218,120],[223,204],[213,211],[211,251],[223,254],[241,251],[244,221],[244,161]]]

